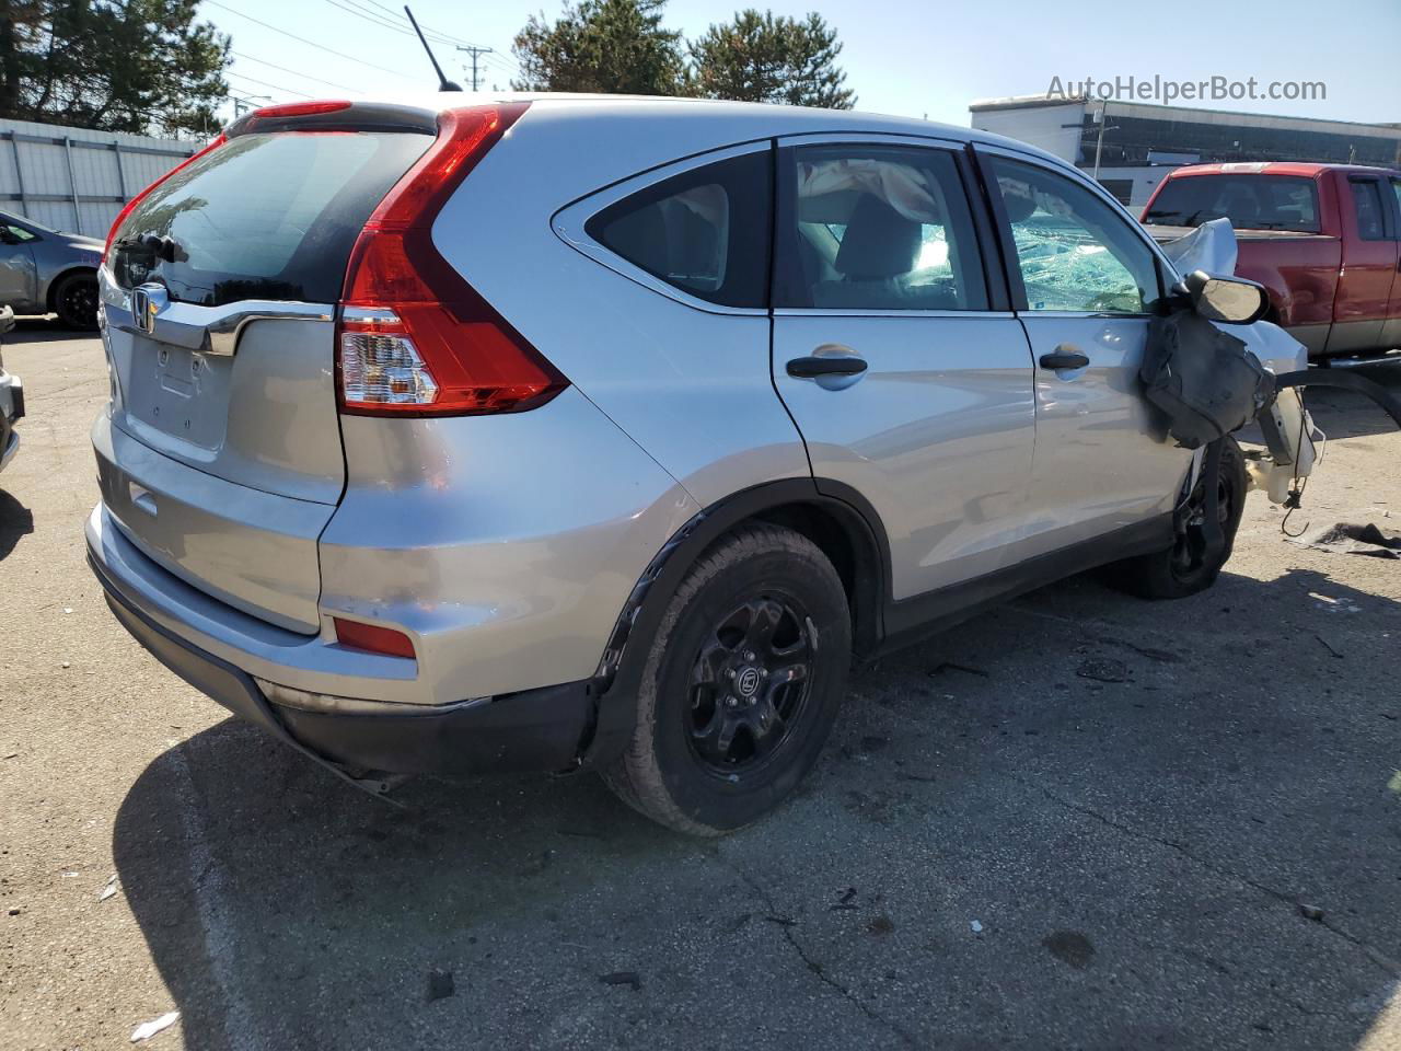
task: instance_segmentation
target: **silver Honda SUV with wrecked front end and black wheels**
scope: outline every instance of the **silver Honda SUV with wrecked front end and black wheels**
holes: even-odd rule
[[[713,834],[811,767],[853,654],[1105,563],[1215,580],[1238,451],[1208,502],[1136,378],[1177,275],[1076,170],[462,102],[254,112],[108,241],[92,569],[237,715],[375,790],[597,769]]]

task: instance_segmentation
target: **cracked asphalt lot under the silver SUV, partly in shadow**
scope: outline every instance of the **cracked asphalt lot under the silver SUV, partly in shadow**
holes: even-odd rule
[[[1285,542],[1252,495],[1209,594],[1082,577],[863,671],[799,796],[717,842],[593,776],[395,809],[118,628],[83,544],[101,349],[8,343],[6,1048],[171,1010],[151,1047],[1401,1048],[1401,562]],[[1401,528],[1401,434],[1317,416],[1290,527]]]

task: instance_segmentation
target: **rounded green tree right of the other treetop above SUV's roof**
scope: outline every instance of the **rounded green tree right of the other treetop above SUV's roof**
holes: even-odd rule
[[[850,109],[856,94],[842,87],[841,53],[836,29],[820,14],[799,21],[751,7],[691,42],[695,91],[741,102]]]

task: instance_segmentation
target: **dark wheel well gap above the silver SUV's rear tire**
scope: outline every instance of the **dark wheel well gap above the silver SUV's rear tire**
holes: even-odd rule
[[[832,500],[766,507],[750,521],[790,528],[807,537],[827,555],[842,580],[852,610],[855,649],[857,654],[873,650],[880,640],[884,566],[870,527],[862,516],[846,504]]]

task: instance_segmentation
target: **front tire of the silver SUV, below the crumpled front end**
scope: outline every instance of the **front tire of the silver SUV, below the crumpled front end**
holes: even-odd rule
[[[1174,521],[1177,538],[1173,547],[1107,566],[1105,576],[1110,584],[1140,598],[1185,598],[1216,583],[1236,544],[1236,530],[1245,507],[1247,488],[1245,458],[1240,453],[1240,446],[1230,434],[1223,437],[1222,443],[1224,444],[1217,492],[1220,526],[1226,535],[1224,547],[1215,554],[1202,551],[1201,516],[1205,511],[1206,492],[1198,479],[1187,503],[1178,509]]]

